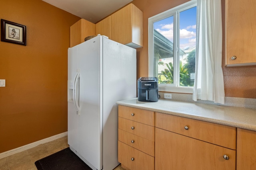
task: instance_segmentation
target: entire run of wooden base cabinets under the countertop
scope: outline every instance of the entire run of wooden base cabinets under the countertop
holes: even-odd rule
[[[126,170],[256,170],[256,131],[118,106]]]

